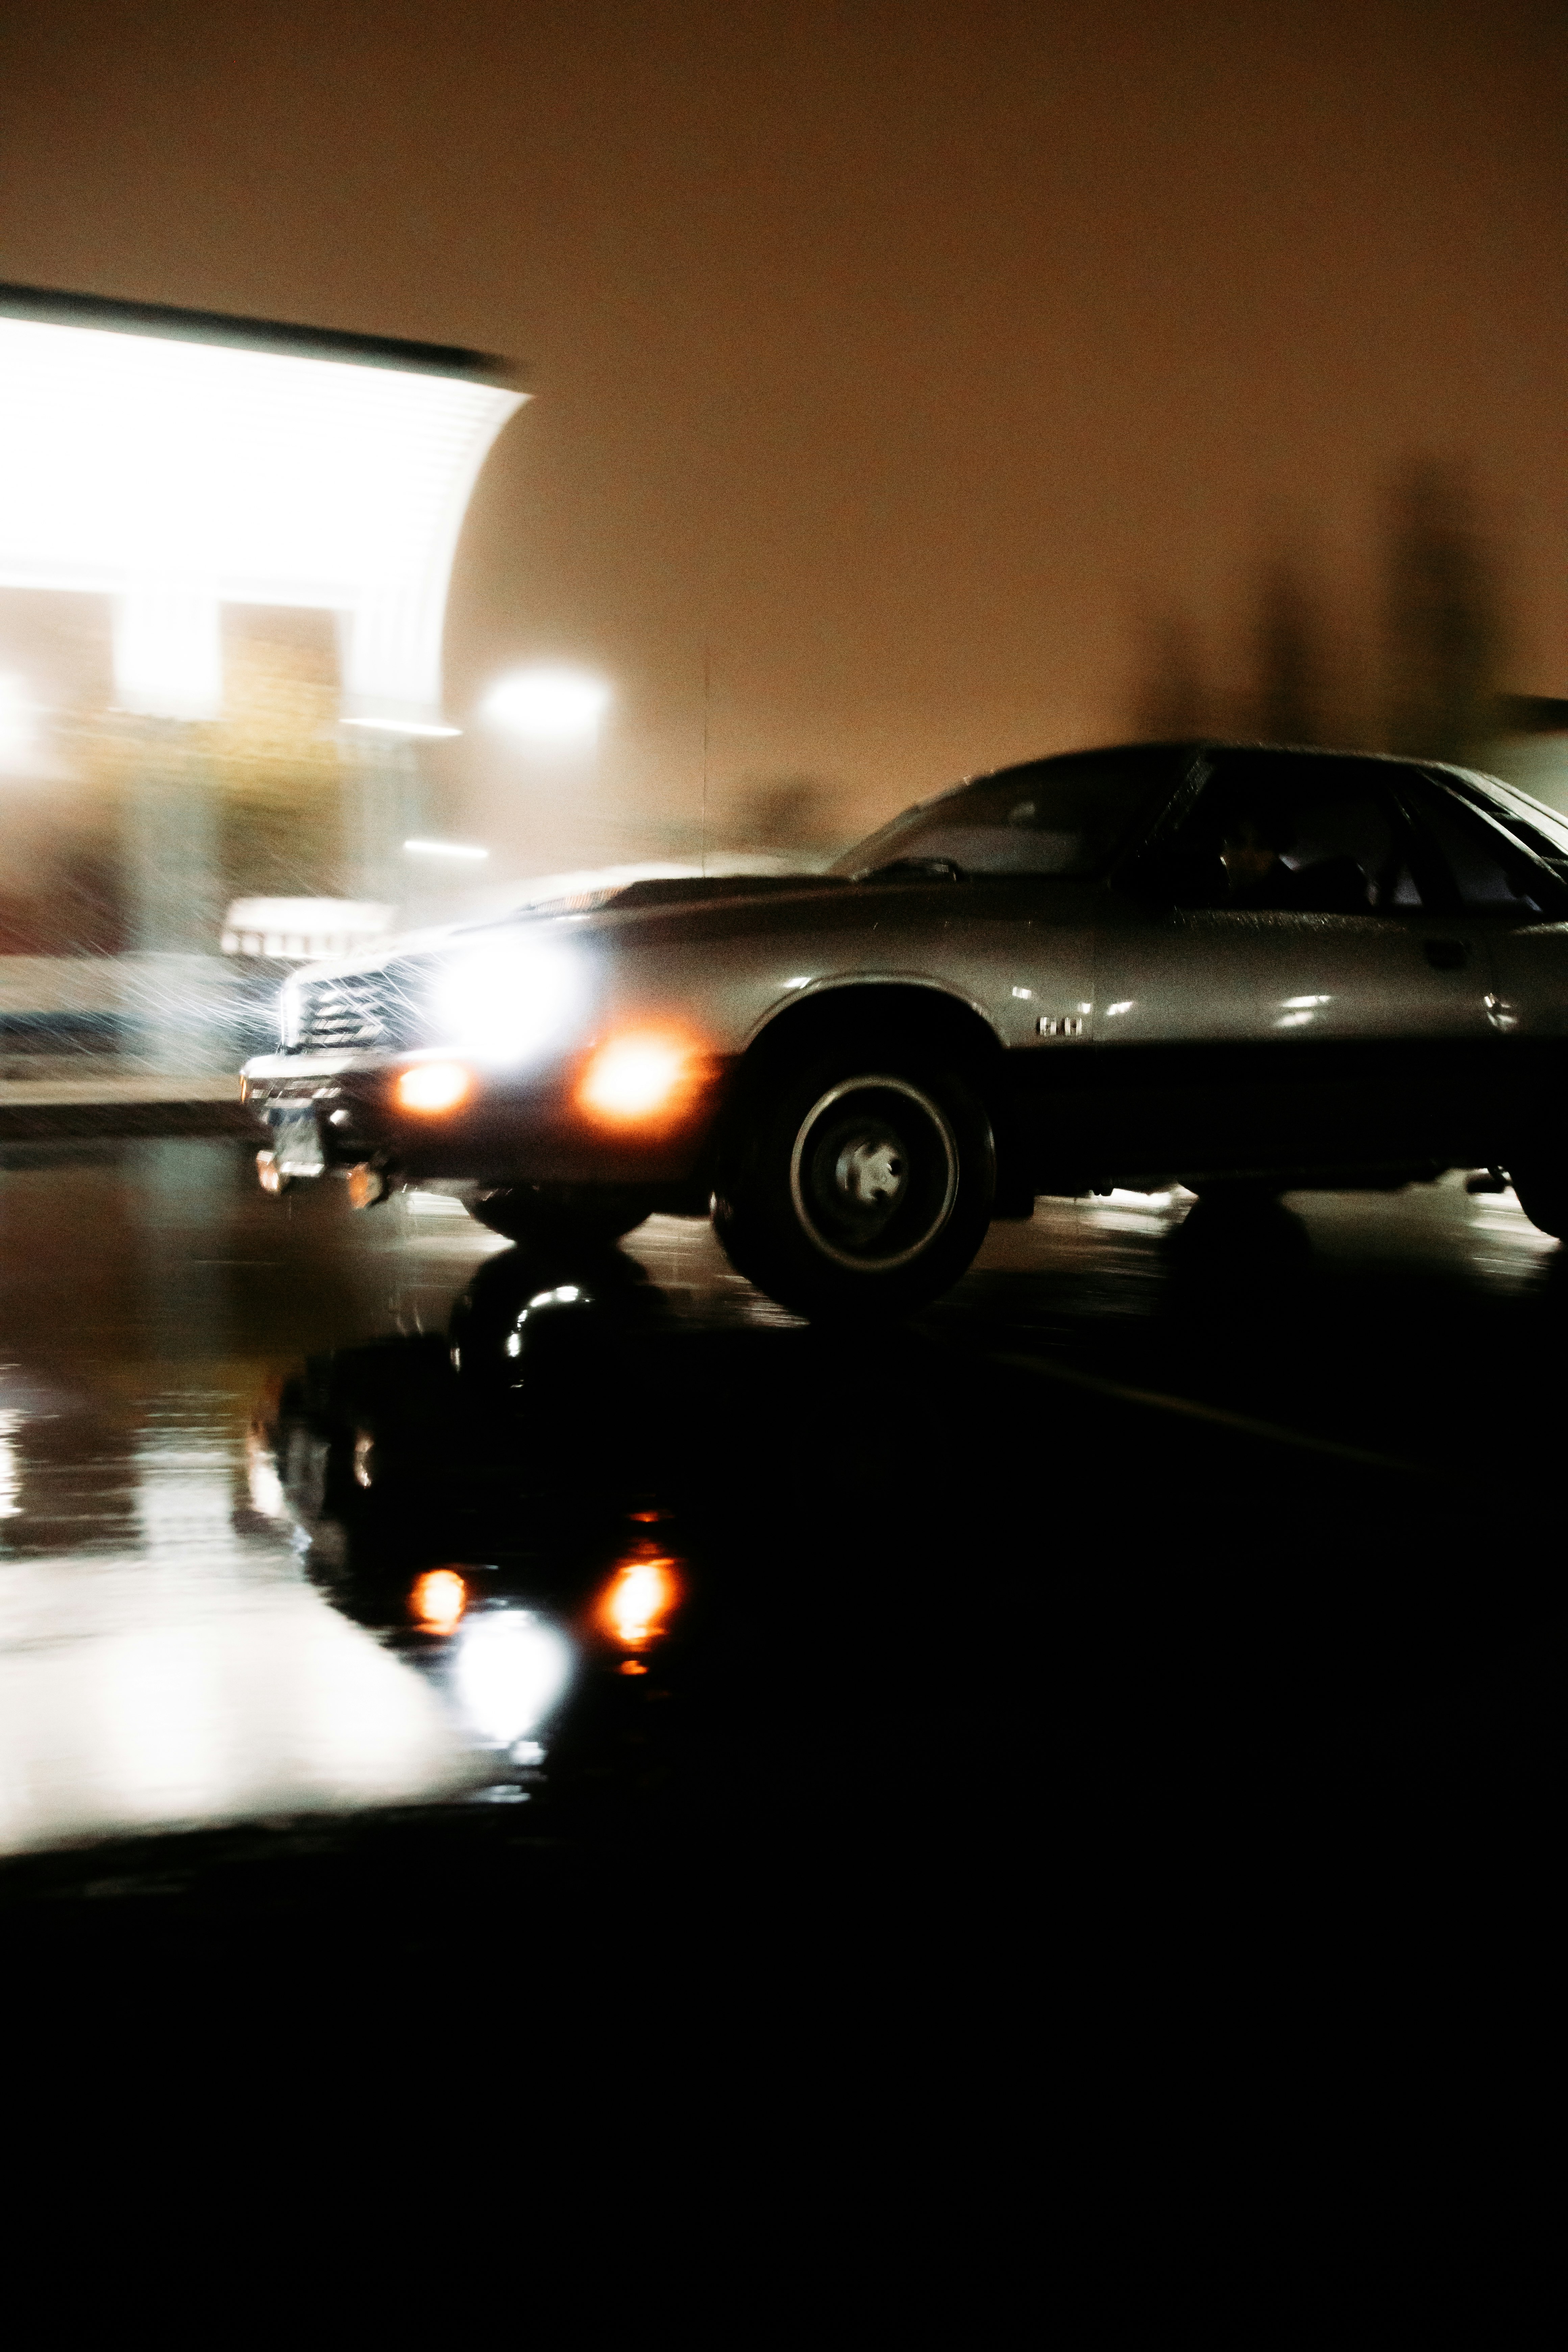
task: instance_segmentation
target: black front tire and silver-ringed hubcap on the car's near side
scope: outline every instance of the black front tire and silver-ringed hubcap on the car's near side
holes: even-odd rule
[[[959,1279],[994,1192],[973,1084],[938,1054],[867,1040],[745,1091],[712,1223],[736,1272],[780,1305],[889,1319]]]

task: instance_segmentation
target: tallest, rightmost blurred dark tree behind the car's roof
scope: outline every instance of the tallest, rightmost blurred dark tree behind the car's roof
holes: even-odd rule
[[[1389,499],[1389,750],[1465,760],[1495,734],[1502,635],[1469,480],[1458,466],[1422,459]]]

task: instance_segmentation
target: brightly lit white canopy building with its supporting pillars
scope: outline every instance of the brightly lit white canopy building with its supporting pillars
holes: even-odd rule
[[[414,746],[454,731],[456,536],[522,400],[473,350],[0,287],[0,590],[108,604],[125,946],[214,957],[235,891],[284,894],[277,875],[219,875],[221,762],[230,786],[242,769],[216,731],[223,637],[242,607],[336,628],[320,786],[339,788],[343,858],[308,887],[400,896]],[[2,630],[0,680],[12,774],[35,715]]]

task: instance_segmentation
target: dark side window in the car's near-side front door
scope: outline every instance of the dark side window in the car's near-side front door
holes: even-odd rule
[[[1420,858],[1356,760],[1220,755],[1171,842],[1171,901],[1295,915],[1422,906]]]

